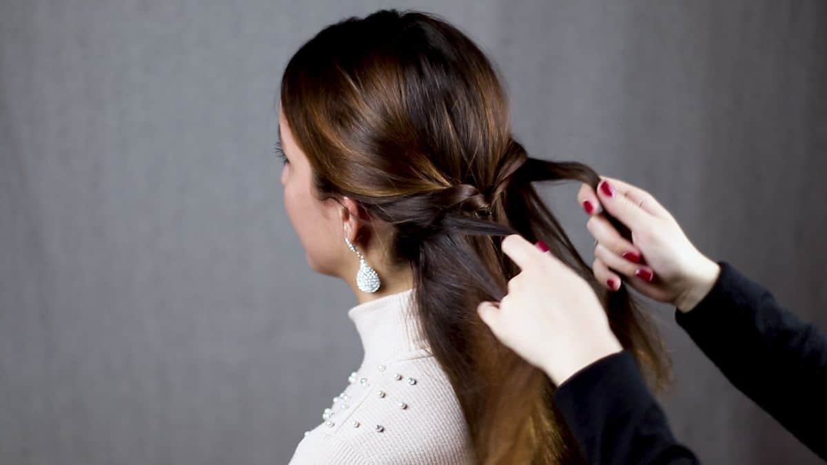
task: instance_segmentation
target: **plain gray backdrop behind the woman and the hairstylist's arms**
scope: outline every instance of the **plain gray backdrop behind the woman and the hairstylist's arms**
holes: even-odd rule
[[[390,6],[490,53],[533,156],[642,185],[825,328],[825,2],[4,1],[0,463],[288,461],[361,345],[284,212],[273,98],[313,33]],[[543,195],[590,262],[576,187]],[[652,307],[678,438],[817,462]]]

